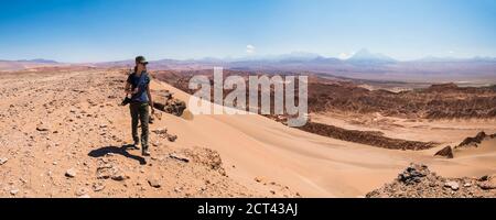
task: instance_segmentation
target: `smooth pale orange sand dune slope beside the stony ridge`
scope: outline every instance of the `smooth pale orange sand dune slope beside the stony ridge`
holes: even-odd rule
[[[174,90],[177,97],[187,101],[187,94],[166,84],[154,86]],[[187,136],[188,144],[203,144],[219,151],[226,163],[236,166],[236,169],[228,169],[236,179],[250,183],[255,177],[263,176],[306,197],[362,196],[395,178],[410,162],[425,163],[449,176],[496,173],[494,147],[487,147],[482,155],[470,154],[448,161],[432,156],[439,147],[424,152],[382,150],[302,132],[260,116],[195,116],[193,121],[174,120],[170,124],[171,128],[188,128],[177,131],[180,136]],[[473,127],[464,133],[475,134],[477,130]],[[442,133],[429,136],[435,140]],[[461,135],[442,139],[443,142],[463,140]],[[479,161],[481,156],[485,160]]]

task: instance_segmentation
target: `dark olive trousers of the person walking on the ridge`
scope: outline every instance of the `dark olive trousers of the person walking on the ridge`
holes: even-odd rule
[[[148,122],[149,122],[149,105],[148,102],[137,102],[129,106],[131,110],[132,140],[139,143],[138,120],[141,123],[141,147],[148,150]]]

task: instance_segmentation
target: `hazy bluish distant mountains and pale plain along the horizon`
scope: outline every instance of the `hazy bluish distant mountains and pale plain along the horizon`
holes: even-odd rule
[[[64,65],[48,59],[0,61],[0,70],[17,70],[39,66]],[[66,65],[66,64],[65,64]],[[72,64],[91,67],[132,68],[133,59],[90,64]],[[263,73],[312,72],[349,78],[408,81],[486,81],[496,84],[496,58],[425,57],[402,62],[382,54],[360,50],[347,59],[324,57],[319,54],[295,52],[285,55],[249,56],[244,58],[160,59],[150,62],[149,69],[226,69]]]

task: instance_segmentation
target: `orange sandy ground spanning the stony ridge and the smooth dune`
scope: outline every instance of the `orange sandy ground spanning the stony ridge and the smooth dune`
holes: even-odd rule
[[[90,157],[88,152],[131,142],[129,109],[118,107],[119,87],[123,86],[118,79],[125,80],[126,76],[117,70],[3,75],[0,84],[9,86],[2,90],[0,107],[10,110],[0,118],[0,157],[7,156],[9,161],[0,166],[0,196],[75,197],[82,187],[90,189],[91,184],[100,182],[95,178],[95,170],[101,158]],[[153,81],[151,88],[171,90],[186,103],[190,98],[164,82]],[[12,89],[14,92],[10,92]],[[109,98],[110,95],[116,97]],[[94,101],[96,106],[91,105]],[[43,107],[45,103],[50,105]],[[71,112],[74,108],[76,116]],[[48,110],[52,112],[47,113]],[[99,117],[77,118],[83,110]],[[73,122],[67,122],[68,119]],[[50,124],[51,132],[58,133],[37,134],[40,121]],[[104,135],[98,130],[101,123],[108,125]],[[306,133],[254,114],[192,119],[163,114],[151,127],[160,128],[168,128],[179,139],[168,143],[151,135],[151,142],[161,142],[151,146],[155,160],[147,161],[152,166],[140,165],[120,154],[110,155],[130,180],[127,184],[105,180],[105,190],[87,194],[91,197],[363,197],[393,179],[411,162],[424,163],[450,177],[496,173],[494,142],[444,160],[432,156],[441,145],[421,152],[385,150]],[[478,132],[475,130],[466,133],[475,135]],[[442,136],[443,132],[424,135],[429,138],[419,140],[454,143],[461,139]],[[218,152],[227,176],[166,158],[171,152],[195,147]],[[130,154],[139,156],[138,151]],[[53,162],[58,163],[53,165]],[[83,170],[76,180],[64,176],[71,167]],[[157,176],[163,187],[149,187],[150,175]],[[22,184],[20,178],[28,184]],[[206,194],[198,193],[207,179],[218,184],[208,185]],[[12,188],[20,188],[21,193],[9,194]]]

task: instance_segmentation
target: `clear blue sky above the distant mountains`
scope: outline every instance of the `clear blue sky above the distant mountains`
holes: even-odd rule
[[[0,0],[0,59],[496,56],[494,0]]]

